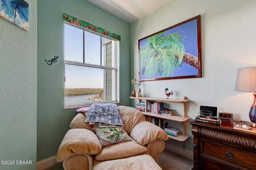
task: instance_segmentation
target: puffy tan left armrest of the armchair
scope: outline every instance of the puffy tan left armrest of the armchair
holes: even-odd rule
[[[62,162],[75,154],[94,155],[101,151],[101,144],[94,132],[84,128],[72,128],[64,136],[57,153]]]

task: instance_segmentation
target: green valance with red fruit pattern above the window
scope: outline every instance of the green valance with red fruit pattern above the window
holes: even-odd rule
[[[118,36],[117,34],[114,34],[112,32],[104,30],[103,28],[94,26],[94,25],[92,25],[92,24],[90,24],[88,22],[82,21],[82,20],[80,20],[80,19],[78,19],[78,18],[76,18],[74,16],[70,16],[70,15],[65,14],[65,13],[63,13],[63,21],[69,22],[71,24],[74,24],[76,26],[85,28],[87,30],[91,30],[91,31],[97,32],[98,34],[102,34],[104,36],[113,38],[113,39],[118,40],[118,41],[121,40],[121,37]]]

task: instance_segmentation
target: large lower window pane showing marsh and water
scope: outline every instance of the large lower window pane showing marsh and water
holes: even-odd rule
[[[113,75],[112,70],[65,64],[65,105],[113,101]]]

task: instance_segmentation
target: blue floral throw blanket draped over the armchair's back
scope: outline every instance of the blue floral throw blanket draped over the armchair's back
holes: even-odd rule
[[[86,115],[85,122],[94,124],[94,127],[124,126],[116,104],[92,104]]]

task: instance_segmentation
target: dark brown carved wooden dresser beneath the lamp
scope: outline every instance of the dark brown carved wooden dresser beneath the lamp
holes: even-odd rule
[[[256,169],[256,128],[254,132],[236,130],[229,121],[222,121],[220,126],[196,121],[190,124],[194,170]]]

